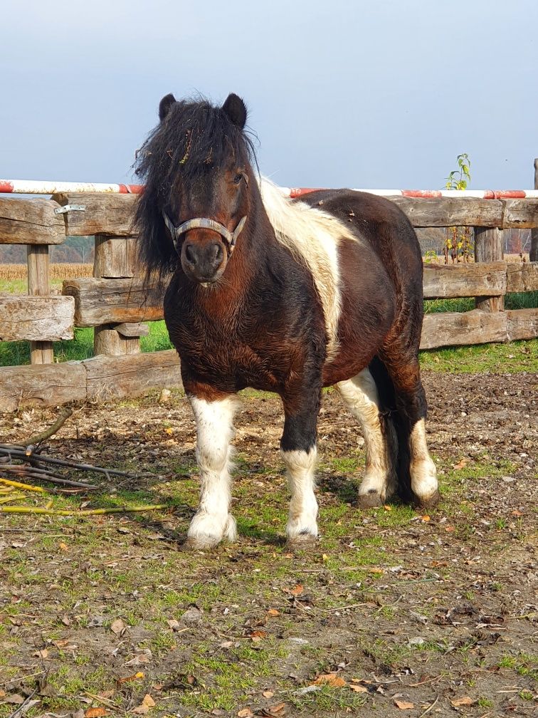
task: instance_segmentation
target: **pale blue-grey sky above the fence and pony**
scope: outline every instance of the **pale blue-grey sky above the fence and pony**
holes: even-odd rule
[[[2,179],[124,182],[162,95],[245,98],[280,185],[532,187],[538,1],[1,3]]]

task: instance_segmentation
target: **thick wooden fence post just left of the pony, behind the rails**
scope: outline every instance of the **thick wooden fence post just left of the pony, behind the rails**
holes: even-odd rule
[[[136,238],[95,235],[93,276],[98,279],[131,279],[135,275]],[[146,325],[131,322],[95,327],[95,354],[120,356],[138,354],[140,337],[147,335]]]

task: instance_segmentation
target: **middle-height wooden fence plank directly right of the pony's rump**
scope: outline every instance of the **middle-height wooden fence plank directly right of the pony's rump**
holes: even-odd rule
[[[425,299],[506,294],[506,262],[425,264],[423,287]]]

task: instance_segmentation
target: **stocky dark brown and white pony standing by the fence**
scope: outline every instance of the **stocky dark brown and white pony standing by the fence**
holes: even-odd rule
[[[292,545],[318,536],[324,386],[336,386],[362,424],[359,504],[385,503],[398,489],[420,505],[436,503],[418,365],[423,268],[405,215],[363,192],[320,190],[292,201],[258,182],[237,95],[222,107],[166,95],[159,120],[136,162],[145,181],[136,225],[148,276],[171,276],[164,317],[197,423],[202,489],[187,546],[235,539],[230,439],[245,387],[283,401]]]

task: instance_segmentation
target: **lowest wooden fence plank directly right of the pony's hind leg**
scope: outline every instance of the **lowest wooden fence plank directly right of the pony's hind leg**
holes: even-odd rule
[[[425,314],[421,349],[485,344],[506,340],[506,312],[443,312]]]

